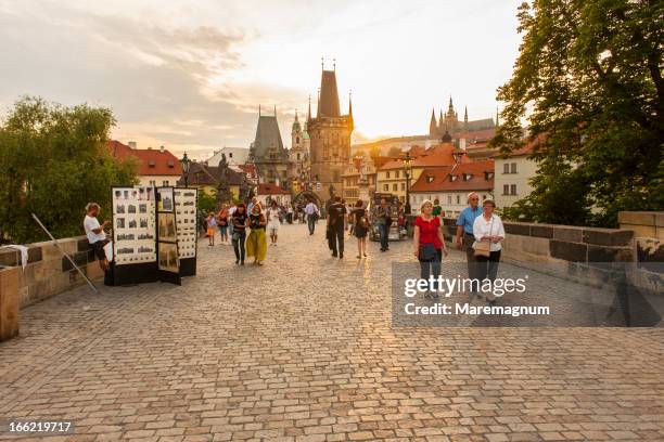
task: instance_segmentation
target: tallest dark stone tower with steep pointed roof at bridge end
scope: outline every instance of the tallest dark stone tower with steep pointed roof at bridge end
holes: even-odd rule
[[[336,89],[336,68],[322,69],[316,117],[309,116],[307,133],[310,139],[311,181],[321,200],[341,195],[342,173],[350,161],[353,104],[342,115]],[[317,184],[320,183],[320,187]]]

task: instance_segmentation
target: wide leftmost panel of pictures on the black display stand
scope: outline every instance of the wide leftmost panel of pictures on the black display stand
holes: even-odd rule
[[[158,281],[154,187],[113,187],[112,285]]]

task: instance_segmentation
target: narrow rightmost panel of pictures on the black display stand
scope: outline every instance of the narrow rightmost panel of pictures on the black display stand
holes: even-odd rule
[[[196,274],[196,200],[197,188],[175,188],[180,276]]]

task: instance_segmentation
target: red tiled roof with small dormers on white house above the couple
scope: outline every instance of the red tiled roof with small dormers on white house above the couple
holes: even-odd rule
[[[486,172],[491,178],[486,179]],[[464,174],[470,173],[470,180]],[[450,176],[456,176],[450,181]],[[463,162],[451,168],[425,169],[418,181],[410,187],[410,192],[440,192],[440,191],[484,191],[494,188],[494,160]]]

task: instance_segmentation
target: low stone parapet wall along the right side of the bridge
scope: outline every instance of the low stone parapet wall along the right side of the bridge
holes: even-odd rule
[[[626,272],[635,287],[664,292],[664,212],[621,212],[618,220],[621,229],[503,221],[501,260],[534,270],[556,269],[562,277],[589,283]],[[414,216],[409,221],[412,234]],[[444,218],[443,224],[454,246],[456,219]]]

